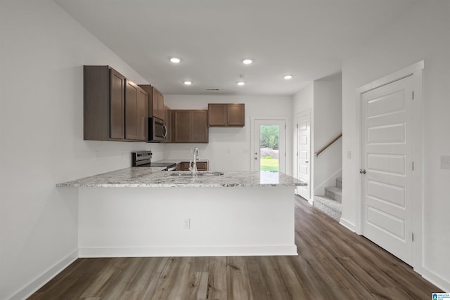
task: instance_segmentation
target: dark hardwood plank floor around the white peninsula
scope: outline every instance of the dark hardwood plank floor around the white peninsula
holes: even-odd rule
[[[298,256],[77,259],[30,299],[431,299],[406,263],[296,197]]]

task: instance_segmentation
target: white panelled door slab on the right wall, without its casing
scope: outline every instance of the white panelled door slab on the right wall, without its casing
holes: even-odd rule
[[[412,76],[361,94],[362,233],[411,264]]]

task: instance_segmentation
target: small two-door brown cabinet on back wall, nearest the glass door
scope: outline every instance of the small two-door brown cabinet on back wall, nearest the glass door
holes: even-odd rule
[[[209,103],[208,126],[210,127],[245,126],[245,104]]]

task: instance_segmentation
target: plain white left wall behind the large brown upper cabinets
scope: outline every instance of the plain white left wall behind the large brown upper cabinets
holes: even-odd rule
[[[162,146],[83,141],[82,65],[146,81],[53,1],[1,1],[0,38],[0,299],[8,299],[77,256],[76,193],[56,183],[129,167],[131,150],[162,158]]]

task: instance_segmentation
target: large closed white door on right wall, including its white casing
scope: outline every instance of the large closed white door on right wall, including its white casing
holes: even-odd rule
[[[399,259],[421,257],[423,61],[361,87],[361,234]]]

